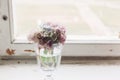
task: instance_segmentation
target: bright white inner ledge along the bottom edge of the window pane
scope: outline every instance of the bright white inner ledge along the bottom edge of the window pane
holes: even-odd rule
[[[12,43],[32,43],[24,36],[15,37]],[[82,43],[82,44],[120,44],[120,38],[114,37],[97,37],[97,36],[67,36],[67,44]]]

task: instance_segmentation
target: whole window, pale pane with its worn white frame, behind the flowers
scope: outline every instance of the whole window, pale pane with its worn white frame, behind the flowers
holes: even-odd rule
[[[120,56],[119,4],[120,0],[0,0],[0,53],[34,55],[26,35],[38,21],[50,21],[67,29],[63,56]]]

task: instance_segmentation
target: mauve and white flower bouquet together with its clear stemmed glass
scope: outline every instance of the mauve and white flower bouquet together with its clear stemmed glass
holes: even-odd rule
[[[48,22],[39,25],[39,29],[29,34],[28,40],[37,43],[38,63],[43,71],[53,71],[60,64],[65,33],[63,26]],[[50,78],[51,74],[47,74],[46,80]]]

